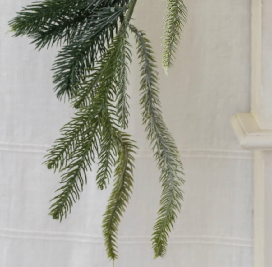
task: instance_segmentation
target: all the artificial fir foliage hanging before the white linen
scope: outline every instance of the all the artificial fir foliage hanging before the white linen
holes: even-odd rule
[[[175,142],[160,111],[157,65],[150,41],[130,24],[137,0],[45,0],[33,2],[9,22],[14,36],[27,35],[36,48],[61,45],[53,64],[57,97],[67,97],[76,113],[48,150],[45,164],[61,173],[61,187],[50,215],[61,221],[80,198],[87,172],[97,162],[97,186],[106,188],[114,169],[113,191],[103,216],[108,257],[117,259],[120,217],[132,193],[135,142],[129,123],[127,85],[131,64],[129,34],[135,35],[140,60],[140,105],[147,138],[161,172],[160,209],[154,224],[155,257],[164,256],[168,234],[181,208],[184,182]],[[182,0],[166,0],[164,53],[166,73],[186,21]]]

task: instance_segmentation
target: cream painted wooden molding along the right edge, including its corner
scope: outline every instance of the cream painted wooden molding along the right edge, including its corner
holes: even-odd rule
[[[251,0],[251,112],[231,124],[254,150],[253,266],[272,266],[272,1]]]

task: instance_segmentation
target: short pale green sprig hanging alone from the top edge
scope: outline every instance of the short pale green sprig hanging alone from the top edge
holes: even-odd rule
[[[184,0],[165,0],[167,4],[166,8],[166,20],[164,23],[164,52],[162,65],[166,75],[168,75],[168,69],[173,67],[174,54],[177,51],[177,45],[180,39],[180,33],[182,27],[187,20],[187,8],[184,5]]]

